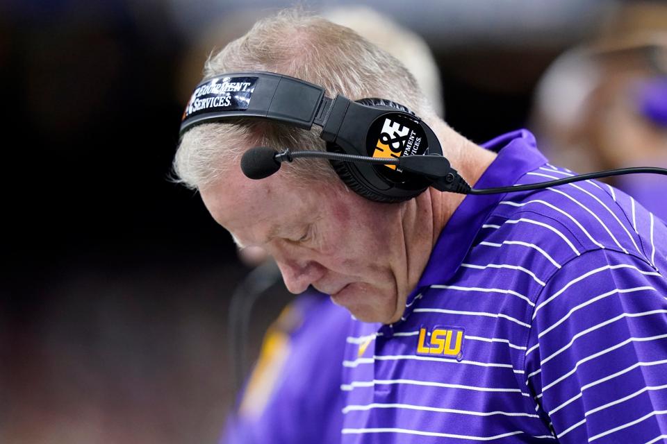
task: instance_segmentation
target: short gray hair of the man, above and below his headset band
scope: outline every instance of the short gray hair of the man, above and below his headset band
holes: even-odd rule
[[[401,62],[349,28],[289,9],[261,19],[204,66],[204,78],[233,71],[270,71],[301,78],[330,97],[380,97],[407,106],[420,117],[434,111]],[[247,146],[325,151],[320,129],[302,130],[259,119],[207,123],[188,130],[174,157],[176,182],[192,189],[211,185]],[[294,162],[283,174],[308,180],[335,178],[326,161]]]

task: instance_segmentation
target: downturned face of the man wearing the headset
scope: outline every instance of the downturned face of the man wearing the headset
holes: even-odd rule
[[[201,190],[204,204],[240,246],[274,257],[291,292],[313,285],[361,321],[400,318],[411,289],[401,205],[370,202],[340,182],[231,170]]]

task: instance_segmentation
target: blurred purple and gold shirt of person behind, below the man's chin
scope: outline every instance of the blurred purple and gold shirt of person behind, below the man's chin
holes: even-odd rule
[[[290,302],[267,331],[220,442],[340,441],[340,367],[351,322],[343,307],[317,291]]]

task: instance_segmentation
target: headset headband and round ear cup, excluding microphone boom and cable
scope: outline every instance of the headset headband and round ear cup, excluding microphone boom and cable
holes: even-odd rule
[[[321,126],[327,150],[365,157],[442,155],[433,130],[407,108],[383,99],[350,101],[304,80],[264,71],[221,74],[199,83],[183,112],[181,137],[201,123],[253,117],[309,130]],[[431,183],[386,166],[333,162],[343,181],[364,197],[395,202],[416,196]]]

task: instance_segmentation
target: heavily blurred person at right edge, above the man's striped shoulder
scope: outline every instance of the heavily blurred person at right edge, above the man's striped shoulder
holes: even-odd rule
[[[555,162],[579,171],[667,167],[667,6],[633,2],[616,17],[547,69],[536,91],[536,132]],[[609,182],[667,220],[664,180]]]

